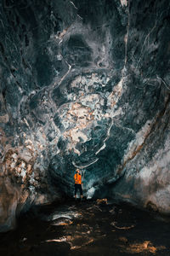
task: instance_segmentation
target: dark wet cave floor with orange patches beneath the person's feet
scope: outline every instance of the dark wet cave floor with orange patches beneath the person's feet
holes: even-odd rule
[[[170,221],[99,201],[36,207],[0,235],[0,255],[170,255]]]

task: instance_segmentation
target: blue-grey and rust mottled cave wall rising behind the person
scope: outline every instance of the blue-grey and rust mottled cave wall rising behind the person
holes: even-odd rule
[[[0,224],[72,196],[170,212],[169,1],[0,3]]]

